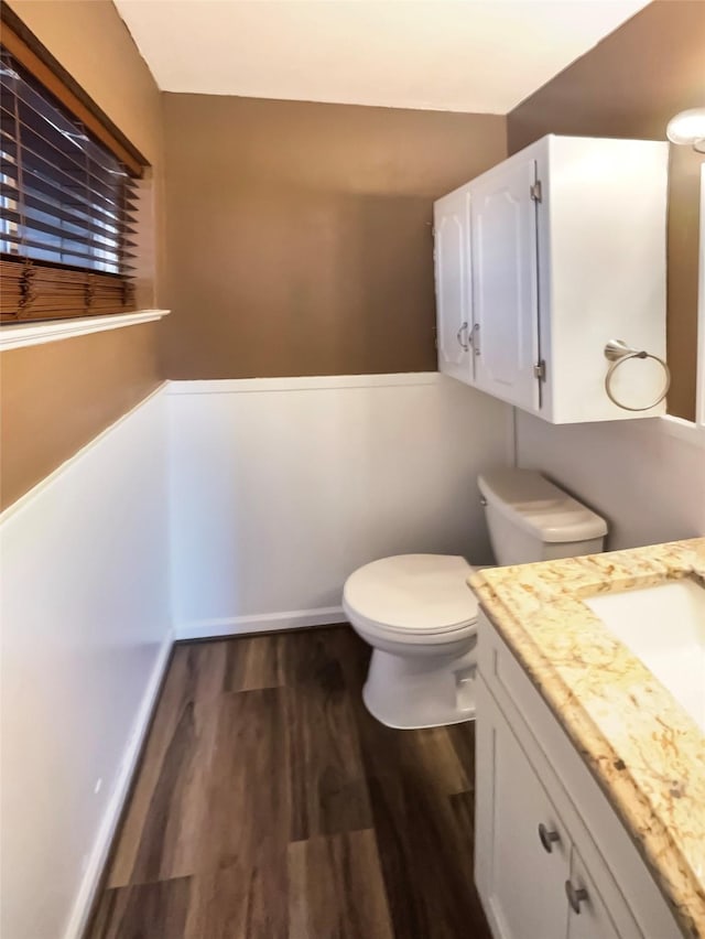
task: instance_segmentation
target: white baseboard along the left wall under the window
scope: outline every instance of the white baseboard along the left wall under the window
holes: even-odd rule
[[[88,863],[86,864],[86,870],[80,882],[80,887],[78,888],[78,894],[74,900],[70,916],[68,917],[68,924],[64,930],[64,939],[80,939],[88,926],[88,919],[93,911],[96,894],[102,882],[102,874],[110,854],[112,840],[120,822],[138,760],[142,753],[147,732],[150,727],[152,714],[156,704],[156,698],[162,687],[162,680],[169,665],[173,644],[174,636],[170,632],[162,641],[156,661],[152,669],[152,674],[150,676],[147,689],[142,695],[142,703],[140,704],[140,709],[132,726],[132,732],[124,748],[122,764],[118,771],[118,778],[116,780],[112,796],[106,807],[102,821],[98,829],[98,834],[88,856]]]

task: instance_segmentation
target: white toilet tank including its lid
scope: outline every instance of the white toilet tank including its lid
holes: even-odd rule
[[[477,482],[498,564],[529,564],[604,550],[605,519],[535,470],[492,470]]]

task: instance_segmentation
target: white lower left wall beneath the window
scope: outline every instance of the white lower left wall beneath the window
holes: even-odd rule
[[[169,658],[165,403],[0,517],[8,939],[80,935]]]

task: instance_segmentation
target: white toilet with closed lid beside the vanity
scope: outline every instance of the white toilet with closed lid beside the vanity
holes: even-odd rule
[[[498,564],[595,554],[607,525],[533,470],[478,478]],[[362,698],[397,730],[436,727],[475,716],[475,569],[454,554],[399,554],[350,574],[343,608],[372,647]]]

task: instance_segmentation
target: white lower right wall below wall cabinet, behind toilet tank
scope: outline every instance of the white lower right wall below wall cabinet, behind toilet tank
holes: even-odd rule
[[[607,519],[611,551],[705,535],[705,449],[661,419],[555,427],[518,411],[517,454]]]

